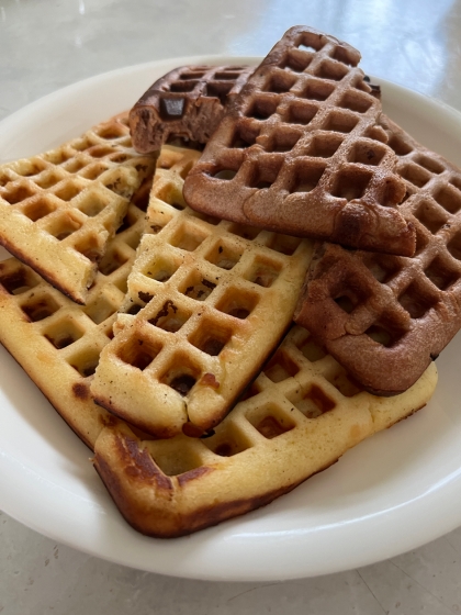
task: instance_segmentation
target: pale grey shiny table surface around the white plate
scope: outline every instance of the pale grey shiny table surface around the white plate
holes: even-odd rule
[[[461,0],[0,0],[0,120],[64,86],[124,66],[203,54],[263,56],[301,23],[359,48],[367,72],[461,111]],[[212,583],[112,564],[0,513],[1,614],[134,610],[460,613],[461,528],[348,572]]]

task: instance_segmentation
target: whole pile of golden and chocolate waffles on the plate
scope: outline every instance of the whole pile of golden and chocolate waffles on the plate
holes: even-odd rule
[[[144,534],[267,504],[435,390],[461,174],[382,114],[359,57],[295,27],[254,72],[178,68],[0,168],[0,340]]]

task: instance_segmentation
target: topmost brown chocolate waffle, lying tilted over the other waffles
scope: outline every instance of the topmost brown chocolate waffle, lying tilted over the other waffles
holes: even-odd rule
[[[412,256],[405,187],[376,125],[360,54],[306,26],[248,79],[185,180],[196,211],[296,236]]]

